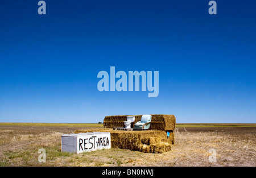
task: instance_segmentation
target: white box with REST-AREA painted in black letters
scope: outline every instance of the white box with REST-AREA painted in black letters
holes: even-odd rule
[[[85,152],[111,148],[110,133],[94,132],[61,135],[61,151]]]

